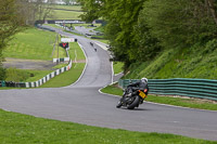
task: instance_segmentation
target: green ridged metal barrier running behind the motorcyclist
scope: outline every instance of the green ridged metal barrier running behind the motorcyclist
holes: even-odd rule
[[[138,79],[131,80],[131,82],[136,81]],[[124,89],[129,83],[129,79],[119,80],[119,87]],[[182,95],[217,101],[217,80],[187,78],[150,79],[148,84],[151,94]]]

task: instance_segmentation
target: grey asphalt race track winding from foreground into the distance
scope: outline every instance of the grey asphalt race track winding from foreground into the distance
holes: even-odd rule
[[[59,31],[68,37],[71,34]],[[22,114],[89,126],[131,131],[161,132],[217,141],[217,112],[145,103],[135,110],[115,107],[119,97],[101,94],[112,82],[106,51],[77,37],[87,55],[86,70],[65,88],[2,90],[0,108]]]

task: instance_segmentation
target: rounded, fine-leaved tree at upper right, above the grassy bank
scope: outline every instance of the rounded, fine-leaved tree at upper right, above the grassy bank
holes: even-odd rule
[[[217,27],[204,0],[151,0],[141,12],[164,48],[184,48],[216,38]]]

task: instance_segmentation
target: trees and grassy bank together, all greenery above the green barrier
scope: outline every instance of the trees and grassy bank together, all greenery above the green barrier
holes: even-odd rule
[[[86,18],[106,21],[114,61],[130,70],[126,78],[216,78],[216,1],[80,1]]]

